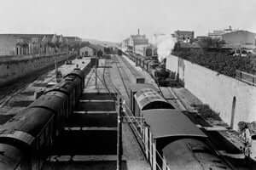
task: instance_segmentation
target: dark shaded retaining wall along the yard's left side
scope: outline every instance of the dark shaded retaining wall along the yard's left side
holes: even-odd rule
[[[13,82],[20,77],[33,74],[56,62],[61,62],[70,57],[70,54],[47,55],[40,57],[28,56],[23,59],[9,59],[0,61],[0,87]]]

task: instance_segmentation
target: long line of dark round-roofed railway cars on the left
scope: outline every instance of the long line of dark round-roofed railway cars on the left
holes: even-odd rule
[[[0,127],[0,169],[41,169],[83,88],[84,70],[76,68],[4,123]]]

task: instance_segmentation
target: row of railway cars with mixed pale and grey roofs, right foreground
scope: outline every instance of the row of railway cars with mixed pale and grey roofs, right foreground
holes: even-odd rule
[[[231,169],[214,151],[207,135],[153,85],[131,86],[129,98],[129,109],[153,170]]]

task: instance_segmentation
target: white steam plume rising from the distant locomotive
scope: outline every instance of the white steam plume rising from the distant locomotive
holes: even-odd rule
[[[163,59],[172,53],[176,39],[172,35],[160,35],[155,38],[157,46],[158,60],[161,62]]]

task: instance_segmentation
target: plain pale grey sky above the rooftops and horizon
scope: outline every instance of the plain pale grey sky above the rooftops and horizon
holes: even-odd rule
[[[207,35],[228,26],[256,32],[256,0],[0,0],[0,33],[57,33],[120,42],[137,28]]]

